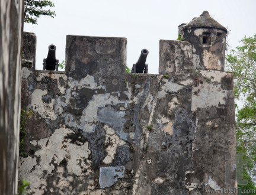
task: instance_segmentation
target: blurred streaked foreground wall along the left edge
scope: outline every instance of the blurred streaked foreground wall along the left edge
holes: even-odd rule
[[[0,194],[15,194],[20,130],[23,1],[0,6]]]

